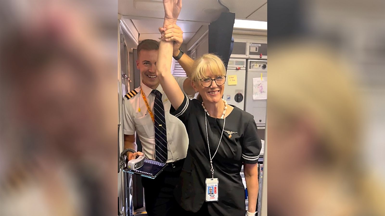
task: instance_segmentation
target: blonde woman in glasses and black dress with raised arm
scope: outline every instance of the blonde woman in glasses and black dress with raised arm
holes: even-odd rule
[[[181,3],[180,0],[163,2],[166,13],[163,30],[166,30],[175,24]],[[185,124],[189,135],[186,161],[174,190],[176,200],[190,214],[244,215],[244,186],[239,174],[244,165],[248,215],[254,215],[261,141],[253,116],[222,99],[226,70],[218,56],[205,54],[192,67],[192,86],[203,102],[190,101],[182,93],[170,73],[171,60],[172,42],[161,41],[157,76],[174,108],[170,113]],[[209,188],[214,189],[214,194],[209,193]]]

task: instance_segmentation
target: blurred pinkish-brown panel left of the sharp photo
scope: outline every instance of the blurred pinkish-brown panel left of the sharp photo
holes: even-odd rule
[[[117,203],[117,1],[0,1],[1,215]]]

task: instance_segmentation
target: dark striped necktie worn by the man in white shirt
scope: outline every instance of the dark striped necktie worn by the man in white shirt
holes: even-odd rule
[[[164,118],[164,107],[162,103],[162,93],[154,89],[151,91],[155,95],[154,100],[154,119],[155,119],[155,160],[167,161],[167,132],[166,120]]]

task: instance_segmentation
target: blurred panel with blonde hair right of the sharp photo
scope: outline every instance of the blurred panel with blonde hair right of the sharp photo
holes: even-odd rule
[[[384,10],[268,1],[269,216],[385,215]]]

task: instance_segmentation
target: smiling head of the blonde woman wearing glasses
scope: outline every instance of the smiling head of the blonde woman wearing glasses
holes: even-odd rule
[[[222,101],[226,81],[222,60],[216,55],[205,54],[194,62],[193,71],[192,86],[199,92],[204,103]]]

